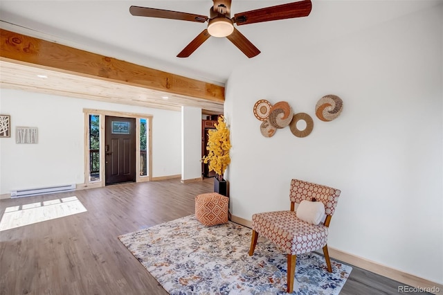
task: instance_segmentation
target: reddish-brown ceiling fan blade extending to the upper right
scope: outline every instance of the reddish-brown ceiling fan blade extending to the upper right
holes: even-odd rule
[[[257,10],[251,10],[234,15],[238,26],[244,24],[255,24],[262,21],[276,21],[278,19],[292,19],[294,17],[307,17],[311,13],[311,0],[271,6]]]

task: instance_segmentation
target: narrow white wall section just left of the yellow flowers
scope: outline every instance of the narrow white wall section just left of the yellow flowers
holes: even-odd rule
[[[201,178],[201,108],[181,107],[181,180]]]

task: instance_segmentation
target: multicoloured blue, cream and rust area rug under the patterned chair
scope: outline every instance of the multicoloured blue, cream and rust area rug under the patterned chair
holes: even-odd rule
[[[229,222],[206,227],[195,215],[118,237],[170,294],[287,294],[287,258],[251,229]],[[297,257],[293,294],[338,294],[352,267],[323,256]]]

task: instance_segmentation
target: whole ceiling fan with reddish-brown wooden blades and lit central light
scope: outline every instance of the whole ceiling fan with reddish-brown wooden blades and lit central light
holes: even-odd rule
[[[139,17],[158,17],[161,19],[179,19],[181,21],[196,21],[204,23],[208,21],[208,28],[204,29],[188,46],[177,55],[177,57],[189,57],[210,36],[226,37],[247,57],[254,57],[260,53],[242,33],[235,27],[244,24],[255,24],[263,21],[275,21],[278,19],[291,19],[294,17],[307,17],[311,12],[311,0],[303,0],[293,3],[282,4],[236,13],[230,18],[231,0],[213,0],[214,6],[210,8],[210,17],[206,15],[194,15],[187,12],[177,12],[156,8],[131,6],[129,12]]]

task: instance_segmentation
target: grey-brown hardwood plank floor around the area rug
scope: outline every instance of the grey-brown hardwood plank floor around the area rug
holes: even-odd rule
[[[87,212],[1,231],[0,294],[168,294],[117,236],[193,214],[194,197],[211,191],[213,179],[169,179],[2,199],[0,215],[73,195]],[[399,294],[399,285],[354,267],[341,294]]]

